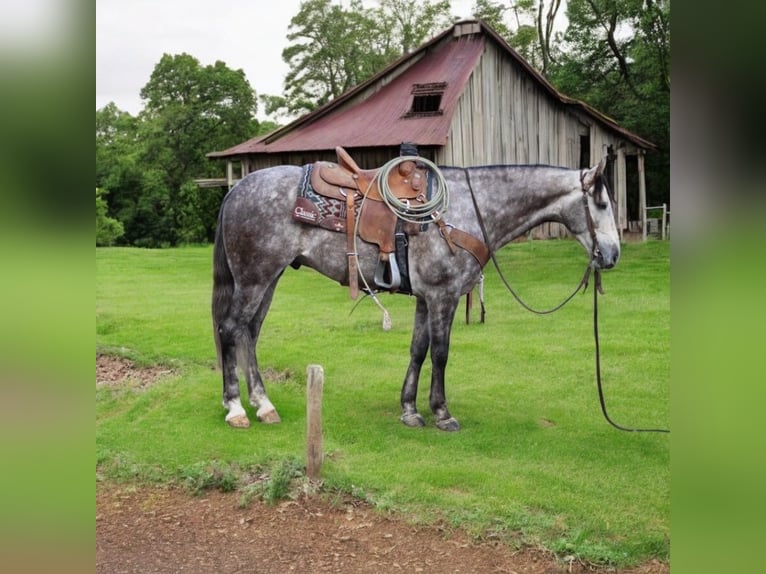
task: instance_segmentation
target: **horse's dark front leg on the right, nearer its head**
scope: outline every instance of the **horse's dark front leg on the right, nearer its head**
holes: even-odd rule
[[[459,300],[441,298],[431,301],[428,307],[429,329],[431,333],[431,394],[429,404],[436,416],[436,426],[445,431],[460,430],[457,422],[447,408],[444,392],[444,373],[449,357],[449,341],[452,332],[452,320],[455,318]]]

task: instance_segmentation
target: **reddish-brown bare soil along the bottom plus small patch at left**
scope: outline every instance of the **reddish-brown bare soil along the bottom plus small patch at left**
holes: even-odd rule
[[[163,369],[96,357],[96,384],[148,385]],[[597,568],[539,549],[478,542],[443,526],[413,526],[365,503],[303,495],[241,508],[237,493],[99,482],[96,572],[389,572],[506,574],[669,574],[668,564]]]

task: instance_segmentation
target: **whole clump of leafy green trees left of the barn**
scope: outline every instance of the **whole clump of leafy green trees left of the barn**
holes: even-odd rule
[[[242,70],[203,66],[189,54],[164,54],[141,96],[138,117],[113,103],[96,110],[96,186],[108,190],[108,216],[124,226],[120,241],[212,240],[224,191],[194,184],[219,174],[220,164],[205,154],[274,124],[255,119],[255,93]]]

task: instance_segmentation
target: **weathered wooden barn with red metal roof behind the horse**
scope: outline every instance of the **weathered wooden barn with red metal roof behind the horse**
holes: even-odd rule
[[[336,146],[360,167],[376,168],[398,156],[402,142],[444,166],[581,168],[608,155],[621,232],[645,228],[644,154],[654,145],[559,93],[479,20],[457,22],[313,112],[208,157],[227,161],[231,186],[265,167],[335,161]],[[628,189],[629,181],[637,189]],[[565,234],[558,224],[535,230],[540,237]]]

